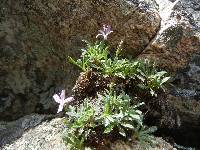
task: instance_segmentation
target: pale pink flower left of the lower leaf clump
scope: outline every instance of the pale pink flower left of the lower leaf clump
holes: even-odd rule
[[[74,97],[68,97],[68,98],[65,99],[65,90],[62,90],[60,95],[54,94],[53,98],[57,103],[59,103],[57,113],[59,113],[63,110],[63,107],[64,107],[65,104],[68,104],[68,103],[74,101]]]

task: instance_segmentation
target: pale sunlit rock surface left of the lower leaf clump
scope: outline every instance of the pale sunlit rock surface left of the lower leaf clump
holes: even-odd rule
[[[25,132],[21,138],[13,141],[13,144],[4,146],[3,150],[66,150],[61,138],[64,125],[63,119],[56,118],[43,122],[41,125]],[[23,122],[22,122],[23,123]]]

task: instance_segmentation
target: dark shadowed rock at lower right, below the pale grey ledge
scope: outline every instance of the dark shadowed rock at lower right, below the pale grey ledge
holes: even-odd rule
[[[168,100],[174,105],[179,114],[180,126],[165,134],[174,138],[175,142],[184,145],[200,148],[200,102],[193,98],[177,97],[168,95]]]

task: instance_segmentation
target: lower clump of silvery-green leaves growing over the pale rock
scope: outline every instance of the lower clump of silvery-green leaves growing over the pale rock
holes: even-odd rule
[[[104,136],[114,130],[124,138],[131,133],[137,140],[152,140],[149,133],[154,128],[144,128],[143,115],[139,110],[143,103],[131,105],[131,101],[124,92],[117,95],[110,89],[93,100],[86,98],[79,107],[69,106],[64,137],[66,143],[71,149],[81,150],[90,142],[91,135],[101,132]]]

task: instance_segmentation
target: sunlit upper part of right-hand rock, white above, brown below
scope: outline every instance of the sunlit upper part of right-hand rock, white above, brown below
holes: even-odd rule
[[[191,55],[200,51],[200,1],[157,1],[161,29],[142,57],[155,60],[170,71],[185,67]]]

